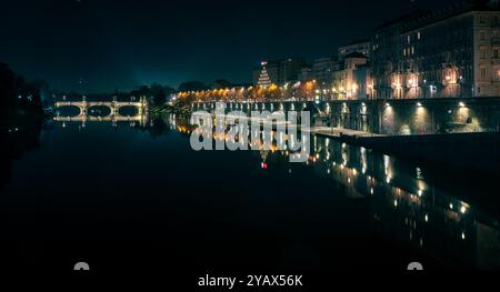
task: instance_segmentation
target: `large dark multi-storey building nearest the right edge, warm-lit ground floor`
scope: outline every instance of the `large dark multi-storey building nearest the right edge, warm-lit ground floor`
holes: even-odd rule
[[[373,95],[379,99],[500,95],[498,1],[418,11],[377,28]]]

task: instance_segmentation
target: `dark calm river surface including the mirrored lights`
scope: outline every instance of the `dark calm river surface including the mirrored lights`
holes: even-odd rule
[[[46,127],[0,187],[3,262],[200,273],[500,266],[494,177],[320,137],[308,163],[284,151],[196,152],[184,130],[168,118]]]

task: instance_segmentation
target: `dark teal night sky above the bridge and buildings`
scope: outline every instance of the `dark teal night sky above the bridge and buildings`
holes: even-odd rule
[[[263,58],[331,56],[381,21],[444,1],[1,0],[0,61],[59,90],[249,82]]]

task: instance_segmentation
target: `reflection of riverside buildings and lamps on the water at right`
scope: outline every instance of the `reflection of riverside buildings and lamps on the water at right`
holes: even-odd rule
[[[314,137],[311,164],[351,199],[369,200],[373,229],[457,266],[498,269],[498,218],[428,183],[422,169],[389,155]],[[460,187],[458,187],[460,188]]]

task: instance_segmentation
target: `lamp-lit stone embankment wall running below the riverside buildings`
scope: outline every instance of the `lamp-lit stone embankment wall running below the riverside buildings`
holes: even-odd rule
[[[192,110],[212,111],[214,105],[194,103]],[[231,110],[308,110],[311,125],[384,134],[500,131],[500,98],[227,103]]]

